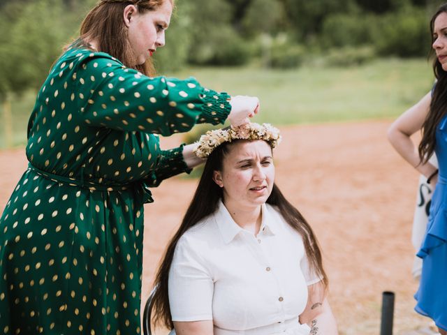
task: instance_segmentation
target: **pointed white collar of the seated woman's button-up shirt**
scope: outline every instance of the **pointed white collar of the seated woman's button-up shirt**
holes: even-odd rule
[[[261,228],[259,232],[264,232],[264,234],[270,234],[274,235],[274,232],[276,231],[276,223],[274,221],[274,218],[272,218],[272,215],[269,213],[268,208],[265,204],[261,205],[261,212],[262,212],[262,222],[261,222]],[[233,218],[230,215],[230,212],[228,209],[226,209],[225,205],[222,201],[219,201],[219,207],[214,214],[214,218],[217,223],[217,227],[219,228],[219,232],[221,233],[221,236],[223,237],[223,241],[225,244],[230,243],[230,241],[233,241],[233,239],[236,237],[237,234],[240,232],[246,232],[243,228],[240,227],[240,225],[237,225]]]

